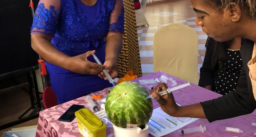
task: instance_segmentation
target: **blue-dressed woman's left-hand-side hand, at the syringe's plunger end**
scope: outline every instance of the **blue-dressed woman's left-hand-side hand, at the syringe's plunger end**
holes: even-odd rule
[[[94,54],[95,50],[88,51],[84,54],[68,57],[68,61],[66,62],[66,69],[80,73],[80,74],[91,74],[91,75],[98,75],[102,71],[102,69],[106,68],[106,66],[93,63],[87,60],[87,57]]]

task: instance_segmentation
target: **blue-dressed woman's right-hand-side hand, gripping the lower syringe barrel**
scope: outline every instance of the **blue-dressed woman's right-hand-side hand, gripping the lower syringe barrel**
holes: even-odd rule
[[[112,79],[115,79],[118,75],[118,67],[117,67],[117,60],[109,59],[104,62],[105,66],[107,66],[106,70],[108,71],[109,75]],[[104,78],[105,80],[108,80],[107,77],[103,72],[100,72],[98,75],[101,78]]]

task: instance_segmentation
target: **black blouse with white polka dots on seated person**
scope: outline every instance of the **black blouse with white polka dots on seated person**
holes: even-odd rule
[[[222,95],[226,95],[234,91],[236,89],[242,66],[243,62],[240,50],[227,50],[225,70],[222,69],[218,71],[218,75],[214,79],[214,91]]]

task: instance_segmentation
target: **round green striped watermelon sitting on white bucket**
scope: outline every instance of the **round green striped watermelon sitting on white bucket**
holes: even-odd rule
[[[145,99],[148,96],[148,91],[136,82],[116,85],[105,103],[109,120],[120,128],[145,126],[153,113],[151,98]]]

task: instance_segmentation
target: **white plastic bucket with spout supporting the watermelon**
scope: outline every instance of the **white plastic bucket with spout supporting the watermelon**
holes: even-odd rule
[[[114,136],[115,137],[148,137],[148,123],[144,129],[140,127],[136,128],[120,128],[115,126],[113,123]]]

